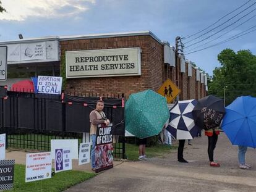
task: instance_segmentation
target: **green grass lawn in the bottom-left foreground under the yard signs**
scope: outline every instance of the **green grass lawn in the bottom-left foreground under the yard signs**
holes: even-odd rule
[[[14,190],[11,191],[63,191],[94,177],[95,173],[86,173],[75,170],[56,173],[52,178],[37,182],[25,183],[25,165],[15,164],[14,169]],[[6,191],[7,192],[7,191]]]

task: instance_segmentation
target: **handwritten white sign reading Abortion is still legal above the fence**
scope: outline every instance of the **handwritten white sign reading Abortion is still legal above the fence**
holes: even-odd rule
[[[62,77],[38,76],[38,93],[61,94]]]

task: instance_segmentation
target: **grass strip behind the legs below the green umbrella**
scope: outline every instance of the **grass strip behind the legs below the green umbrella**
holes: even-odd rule
[[[156,144],[150,148],[146,147],[146,154],[148,157],[163,157],[163,154],[177,149],[176,146],[168,146],[165,144]],[[129,161],[138,161],[139,146],[136,144],[126,144],[126,156]]]

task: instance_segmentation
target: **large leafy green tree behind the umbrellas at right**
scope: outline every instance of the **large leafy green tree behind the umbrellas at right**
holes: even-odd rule
[[[221,67],[213,70],[208,93],[230,104],[238,96],[256,96],[256,56],[249,50],[224,49],[218,55]]]

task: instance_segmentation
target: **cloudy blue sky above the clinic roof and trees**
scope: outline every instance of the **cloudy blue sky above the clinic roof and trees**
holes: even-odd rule
[[[251,30],[255,30],[256,0],[1,0],[1,2],[7,12],[0,14],[0,41],[19,40],[20,33],[23,38],[37,38],[150,30],[161,41],[168,41],[173,46],[176,36],[181,36],[186,59],[195,62],[209,75],[212,75],[215,67],[221,66],[217,57],[223,49],[230,48],[234,51],[249,49],[252,54],[256,54],[256,31],[218,46],[187,54],[191,52],[190,49],[195,48],[192,51],[197,51],[228,40],[238,33],[243,35],[245,32],[242,32],[251,27]],[[242,4],[245,5],[237,9]],[[249,8],[246,9],[247,7]],[[234,9],[237,10],[221,19]],[[241,12],[243,9],[246,10]],[[238,15],[231,19],[236,14]],[[229,21],[226,22],[227,20]],[[215,23],[216,21],[218,22]],[[238,26],[243,22],[245,23]],[[211,28],[187,38],[213,23],[215,25]],[[222,23],[224,24],[221,25]],[[213,30],[215,27],[217,28]],[[200,37],[197,38],[198,36]],[[197,39],[193,40],[193,38]],[[208,43],[214,38],[218,39]],[[190,40],[193,41],[187,42]],[[203,41],[197,43],[200,40]],[[193,43],[197,44],[190,46]],[[203,45],[204,43],[208,44]]]

